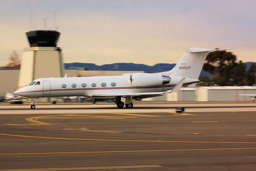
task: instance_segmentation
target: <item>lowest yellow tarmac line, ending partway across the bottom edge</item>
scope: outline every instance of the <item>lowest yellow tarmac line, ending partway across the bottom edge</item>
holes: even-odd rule
[[[64,170],[89,170],[89,169],[131,169],[162,167],[160,165],[138,165],[138,166],[106,166],[106,167],[63,167],[63,168],[43,168],[43,169],[7,169],[0,171],[64,171]]]

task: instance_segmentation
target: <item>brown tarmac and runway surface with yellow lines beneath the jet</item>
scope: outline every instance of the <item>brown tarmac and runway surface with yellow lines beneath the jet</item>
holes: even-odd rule
[[[255,103],[134,106],[2,104],[0,171],[256,168]]]

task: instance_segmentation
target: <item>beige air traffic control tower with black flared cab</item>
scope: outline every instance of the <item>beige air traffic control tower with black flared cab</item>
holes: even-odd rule
[[[35,30],[26,32],[30,48],[22,52],[18,88],[37,78],[63,77],[61,49],[56,47],[60,32]]]

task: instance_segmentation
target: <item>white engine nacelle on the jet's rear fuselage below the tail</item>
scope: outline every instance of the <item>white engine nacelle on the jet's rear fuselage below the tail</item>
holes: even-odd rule
[[[123,74],[128,75],[128,74]],[[149,73],[133,73],[129,74],[130,84],[136,87],[151,87],[162,84],[167,84],[171,81],[169,76],[162,76],[161,74]]]

